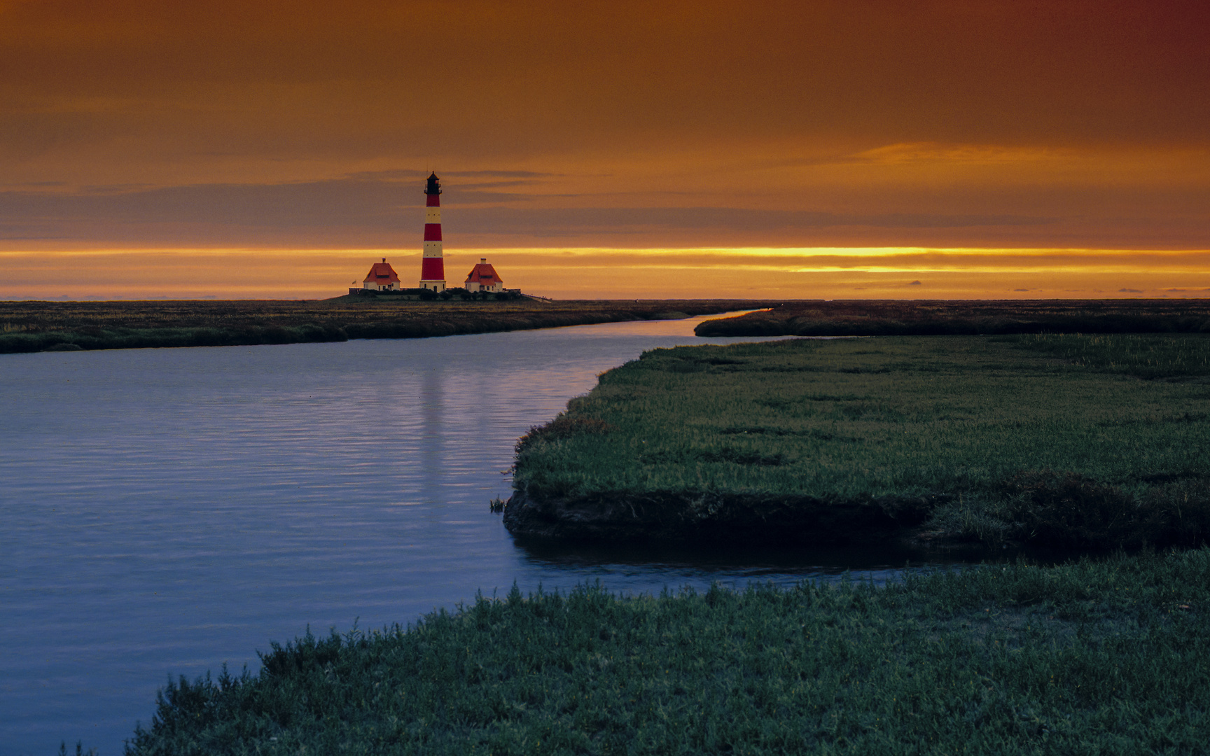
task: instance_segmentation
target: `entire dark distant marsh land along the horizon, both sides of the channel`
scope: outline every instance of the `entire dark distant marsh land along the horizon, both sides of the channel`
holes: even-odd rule
[[[761,310],[699,336],[1210,333],[1210,300],[417,301],[152,300],[0,302],[0,353],[416,339]]]

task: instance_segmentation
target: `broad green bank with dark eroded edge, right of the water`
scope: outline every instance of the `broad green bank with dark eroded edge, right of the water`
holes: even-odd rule
[[[1081,548],[1210,536],[1210,336],[656,350],[518,445],[518,533]]]

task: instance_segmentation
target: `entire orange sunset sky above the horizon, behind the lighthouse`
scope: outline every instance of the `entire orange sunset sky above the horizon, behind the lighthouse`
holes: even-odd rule
[[[0,298],[1210,296],[1210,4],[0,0]],[[415,269],[415,270],[413,270]]]

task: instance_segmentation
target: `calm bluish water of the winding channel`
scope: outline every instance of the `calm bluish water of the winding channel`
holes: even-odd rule
[[[894,552],[515,543],[515,439],[702,318],[402,341],[0,356],[0,754],[121,752],[168,675],[309,627],[847,567]]]

